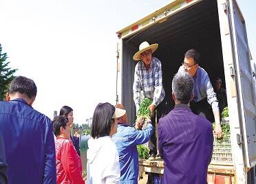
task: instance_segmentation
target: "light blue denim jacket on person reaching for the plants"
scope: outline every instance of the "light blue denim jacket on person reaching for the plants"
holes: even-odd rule
[[[118,124],[117,133],[112,136],[119,154],[120,183],[138,183],[138,152],[136,146],[149,141],[153,126],[149,123],[144,130],[136,130],[125,124]]]

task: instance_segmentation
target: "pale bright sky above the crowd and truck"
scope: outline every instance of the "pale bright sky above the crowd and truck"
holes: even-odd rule
[[[116,32],[171,1],[0,0],[0,43],[16,76],[36,83],[33,107],[52,119],[63,105],[85,123],[116,100]],[[238,0],[256,58],[255,0]]]

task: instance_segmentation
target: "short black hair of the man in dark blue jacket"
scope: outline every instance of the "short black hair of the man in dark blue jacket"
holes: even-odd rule
[[[21,94],[27,95],[30,99],[36,97],[37,88],[36,84],[30,78],[25,78],[23,76],[19,76],[14,78],[10,83],[10,88],[8,89],[8,93],[16,93],[19,92]]]

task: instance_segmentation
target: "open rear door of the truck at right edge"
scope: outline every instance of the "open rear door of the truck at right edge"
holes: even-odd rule
[[[246,25],[242,12],[235,0],[229,0],[231,39],[233,42],[234,71],[237,76],[237,104],[239,106],[239,122],[244,150],[246,168],[256,165],[256,103],[255,82],[250,64],[250,51],[246,35]]]

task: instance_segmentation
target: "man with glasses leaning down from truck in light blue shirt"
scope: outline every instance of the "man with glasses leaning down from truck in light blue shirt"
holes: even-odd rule
[[[193,90],[194,97],[190,103],[191,110],[197,115],[205,116],[210,122],[215,121],[215,136],[217,139],[220,139],[222,137],[222,127],[220,126],[219,102],[217,101],[208,73],[198,66],[199,62],[199,52],[195,49],[190,49],[186,51],[184,62],[178,72],[186,71],[193,77],[195,87]],[[209,111],[209,104],[211,105],[213,115],[211,110]]]

